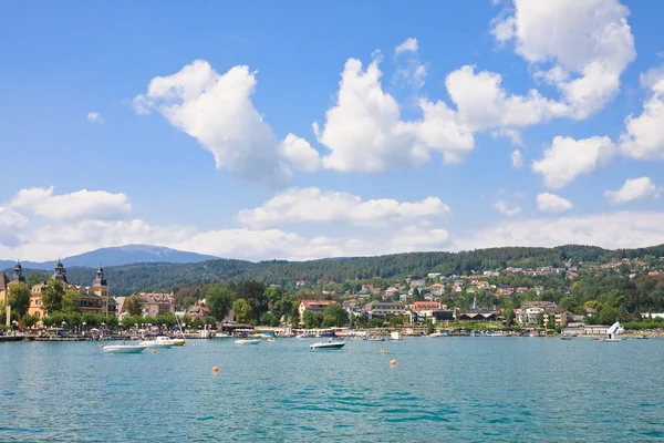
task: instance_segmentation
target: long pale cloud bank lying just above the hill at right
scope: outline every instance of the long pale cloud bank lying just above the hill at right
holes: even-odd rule
[[[455,249],[501,246],[594,245],[639,248],[664,244],[664,213],[624,212],[590,216],[509,220],[477,229]]]

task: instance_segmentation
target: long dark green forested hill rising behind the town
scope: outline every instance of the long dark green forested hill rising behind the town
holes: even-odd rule
[[[138,290],[172,290],[181,286],[208,285],[229,280],[259,280],[266,284],[294,287],[298,280],[308,285],[319,280],[344,281],[443,275],[469,275],[497,268],[539,266],[564,267],[569,260],[608,262],[622,258],[664,257],[664,245],[639,249],[608,250],[594,246],[567,245],[554,248],[504,247],[461,253],[411,253],[378,257],[356,257],[334,260],[251,262],[217,259],[197,264],[142,262],[106,268],[106,279],[114,295]],[[71,281],[91,285],[94,268],[68,268]],[[30,274],[31,271],[28,271]],[[34,271],[32,271],[34,272]],[[43,271],[39,271],[43,272]]]

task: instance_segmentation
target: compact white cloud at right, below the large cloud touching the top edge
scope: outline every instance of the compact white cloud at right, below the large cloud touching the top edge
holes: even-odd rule
[[[544,186],[560,189],[581,174],[590,174],[605,164],[615,146],[609,137],[574,140],[554,137],[544,157],[532,164],[532,171],[543,175]]]

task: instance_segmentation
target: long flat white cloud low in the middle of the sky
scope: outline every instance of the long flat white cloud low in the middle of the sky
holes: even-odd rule
[[[293,188],[266,202],[259,208],[243,209],[238,219],[253,228],[300,222],[350,222],[382,225],[391,222],[446,214],[449,207],[437,197],[400,203],[391,198],[362,200],[349,193],[323,192],[315,187]]]

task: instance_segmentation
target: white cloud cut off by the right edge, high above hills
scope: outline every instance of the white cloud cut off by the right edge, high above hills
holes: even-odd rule
[[[641,82],[650,87],[650,97],[643,103],[641,115],[625,120],[620,148],[633,158],[664,159],[664,68],[649,71]]]

